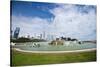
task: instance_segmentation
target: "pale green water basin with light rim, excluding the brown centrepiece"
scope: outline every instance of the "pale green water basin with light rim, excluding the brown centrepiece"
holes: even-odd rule
[[[77,42],[65,42],[64,45],[55,46],[55,45],[49,45],[49,42],[28,42],[28,43],[16,43],[16,45],[14,45],[13,48],[23,52],[59,53],[59,52],[95,50],[96,44],[95,43],[79,44]]]

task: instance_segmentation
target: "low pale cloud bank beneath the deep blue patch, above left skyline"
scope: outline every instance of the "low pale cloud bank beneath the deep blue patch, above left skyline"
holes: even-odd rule
[[[35,33],[44,31],[44,27],[47,25],[47,21],[39,17],[12,16],[12,29],[20,27],[20,36],[34,36]]]

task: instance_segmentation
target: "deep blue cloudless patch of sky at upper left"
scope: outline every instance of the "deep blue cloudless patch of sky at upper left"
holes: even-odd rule
[[[51,18],[54,17],[49,9],[57,7],[52,3],[12,1],[12,14],[27,17]]]

